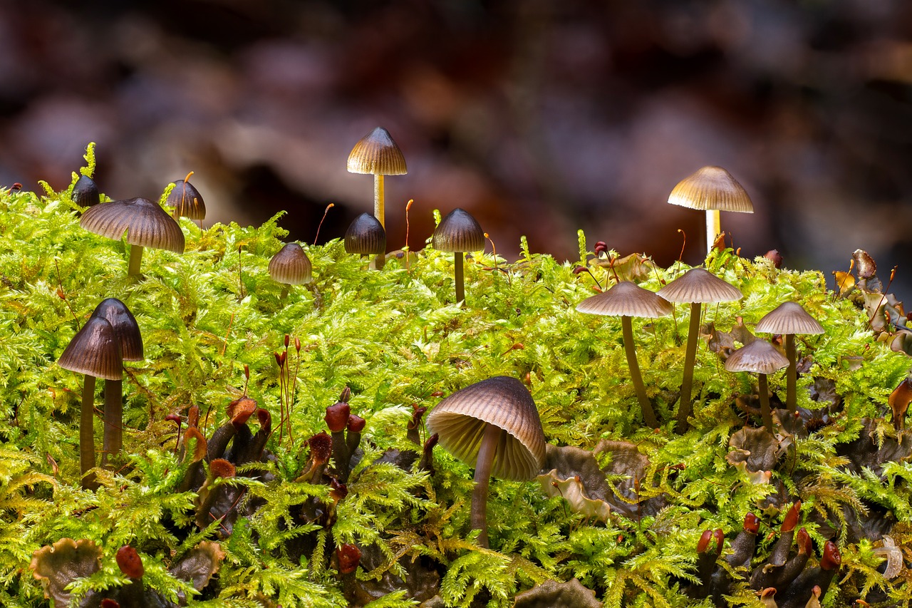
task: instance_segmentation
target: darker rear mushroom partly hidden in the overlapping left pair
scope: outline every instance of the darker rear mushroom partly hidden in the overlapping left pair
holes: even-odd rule
[[[117,298],[101,300],[92,312],[111,324],[120,346],[123,361],[142,361],[140,326],[130,309]],[[119,453],[123,446],[123,377],[105,380],[105,428],[102,439],[102,462]]]

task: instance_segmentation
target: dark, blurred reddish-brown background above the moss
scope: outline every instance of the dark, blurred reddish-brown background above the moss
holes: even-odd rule
[[[469,210],[498,252],[699,263],[703,218],[666,204],[727,168],[756,213],[741,254],[845,270],[912,265],[907,0],[0,1],[0,183],[64,188],[98,142],[101,191],[156,198],[193,171],[205,225],[287,210],[290,239],[371,211],[355,142],[389,130],[389,248]],[[830,287],[834,286],[830,278]]]

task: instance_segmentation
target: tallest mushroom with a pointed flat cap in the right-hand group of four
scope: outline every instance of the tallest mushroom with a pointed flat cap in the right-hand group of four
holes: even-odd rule
[[[684,378],[681,382],[681,398],[678,407],[678,425],[675,430],[687,430],[690,415],[690,391],[693,387],[693,366],[697,359],[697,340],[700,333],[700,308],[704,303],[728,302],[741,299],[741,289],[726,283],[702,268],[691,268],[679,278],[659,289],[658,296],[669,302],[690,304],[690,325],[687,336],[687,351],[684,357]]]

